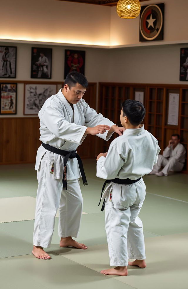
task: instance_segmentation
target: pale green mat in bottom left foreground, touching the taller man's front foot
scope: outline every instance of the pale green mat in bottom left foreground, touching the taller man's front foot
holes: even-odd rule
[[[51,260],[33,255],[1,259],[1,288],[7,289],[132,289],[95,270],[51,252]]]

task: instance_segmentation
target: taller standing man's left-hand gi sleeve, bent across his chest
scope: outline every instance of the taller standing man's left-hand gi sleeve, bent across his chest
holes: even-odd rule
[[[40,119],[52,134],[62,140],[80,145],[85,138],[87,127],[68,122],[57,108],[47,106]]]

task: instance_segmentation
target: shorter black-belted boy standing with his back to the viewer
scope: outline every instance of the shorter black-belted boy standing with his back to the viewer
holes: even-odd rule
[[[144,116],[142,103],[124,101],[120,121],[125,131],[113,140],[107,153],[97,157],[97,177],[107,179],[105,184],[108,183],[102,196],[105,198],[102,210],[105,206],[110,266],[115,266],[101,271],[102,274],[127,276],[127,265],[146,267],[143,227],[138,218],[145,199],[142,176],[157,163],[160,147],[140,124]],[[128,259],[136,260],[128,262]]]

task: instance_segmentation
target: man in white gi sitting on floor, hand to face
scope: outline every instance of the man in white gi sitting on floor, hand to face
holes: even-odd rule
[[[159,154],[157,164],[155,164],[150,174],[156,174],[158,177],[162,177],[167,176],[170,171],[182,171],[185,162],[185,153],[184,146],[180,144],[179,135],[176,133],[173,134],[163,154]],[[163,169],[160,171],[161,166]]]

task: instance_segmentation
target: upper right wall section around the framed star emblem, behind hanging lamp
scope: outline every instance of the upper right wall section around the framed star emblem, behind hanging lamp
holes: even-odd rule
[[[151,0],[141,2],[141,6],[164,3],[164,41],[188,42],[188,0]],[[139,45],[139,21],[136,19],[121,19],[117,15],[116,6],[111,8],[110,46]],[[148,41],[150,42],[150,41]],[[148,43],[147,42],[147,43]],[[152,41],[153,43],[158,41]]]

